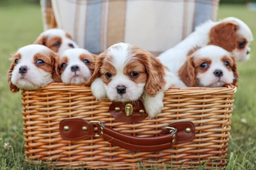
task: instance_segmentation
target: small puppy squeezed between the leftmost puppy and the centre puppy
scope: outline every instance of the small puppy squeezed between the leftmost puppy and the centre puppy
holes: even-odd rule
[[[85,49],[68,49],[60,57],[58,68],[65,84],[85,84],[94,71],[97,55]]]

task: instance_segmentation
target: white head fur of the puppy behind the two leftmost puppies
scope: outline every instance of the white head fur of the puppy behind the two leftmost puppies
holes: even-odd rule
[[[63,55],[64,51],[67,49],[72,49],[72,47],[68,45],[70,43],[74,45],[74,48],[79,48],[79,46],[73,40],[66,37],[66,32],[63,29],[48,29],[41,33],[39,37],[40,36],[47,36],[48,38],[56,36],[61,37],[62,42],[60,48],[58,49],[59,55]]]

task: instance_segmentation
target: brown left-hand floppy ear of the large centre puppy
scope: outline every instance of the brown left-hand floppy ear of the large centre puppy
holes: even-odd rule
[[[106,52],[99,55],[92,54],[95,57],[95,68],[92,76],[88,79],[85,84],[91,84],[95,79],[100,76],[101,66],[103,65],[103,59],[106,57]]]

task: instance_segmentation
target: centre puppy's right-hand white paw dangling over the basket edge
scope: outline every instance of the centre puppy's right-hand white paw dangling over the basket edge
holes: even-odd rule
[[[163,92],[157,93],[155,97],[150,97],[146,94],[144,95],[144,107],[151,118],[156,117],[157,114],[161,113],[161,110],[164,107],[163,99]]]

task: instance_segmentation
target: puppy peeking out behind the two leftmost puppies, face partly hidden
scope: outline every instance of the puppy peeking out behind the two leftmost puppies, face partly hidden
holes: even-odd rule
[[[47,46],[52,51],[62,55],[67,49],[79,48],[69,33],[62,29],[48,29],[41,33],[34,44]]]

